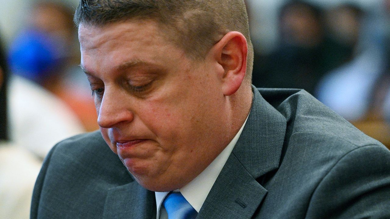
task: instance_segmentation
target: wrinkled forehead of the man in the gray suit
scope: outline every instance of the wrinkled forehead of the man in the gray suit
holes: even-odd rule
[[[127,63],[167,65],[186,59],[183,49],[165,37],[154,21],[79,26],[81,65],[86,72],[110,72]]]

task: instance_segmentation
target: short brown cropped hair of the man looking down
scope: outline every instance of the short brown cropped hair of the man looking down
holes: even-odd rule
[[[74,23],[90,26],[129,19],[152,19],[165,28],[168,39],[191,58],[202,59],[230,31],[247,40],[246,80],[252,80],[253,46],[244,0],[80,0]],[[173,36],[173,37],[172,37]]]

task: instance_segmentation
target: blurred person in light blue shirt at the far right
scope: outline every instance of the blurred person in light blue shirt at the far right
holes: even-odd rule
[[[386,121],[390,111],[389,50],[386,45],[362,37],[364,19],[357,5],[343,4],[328,11],[330,32],[350,46],[353,54],[349,62],[321,79],[316,95],[361,131],[390,148],[390,126]]]

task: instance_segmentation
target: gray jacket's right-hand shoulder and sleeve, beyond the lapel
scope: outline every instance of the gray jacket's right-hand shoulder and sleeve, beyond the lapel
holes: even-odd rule
[[[261,214],[278,208],[275,218],[387,218],[390,151],[384,145],[304,90],[260,92],[287,121],[280,166],[264,184]]]

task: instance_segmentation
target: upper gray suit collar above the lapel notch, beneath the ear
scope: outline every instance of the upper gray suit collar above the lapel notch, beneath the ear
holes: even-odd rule
[[[287,122],[256,88],[253,91],[248,122],[232,153],[253,178],[258,178],[279,167]]]

